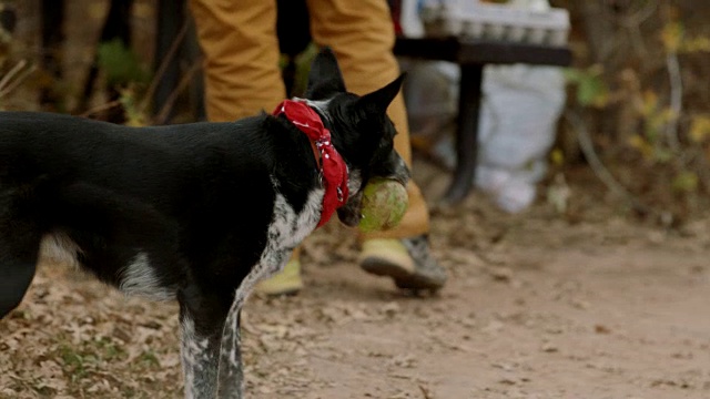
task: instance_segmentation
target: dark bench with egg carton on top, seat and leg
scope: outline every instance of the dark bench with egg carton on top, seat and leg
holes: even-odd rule
[[[399,57],[450,61],[460,68],[456,129],[457,163],[454,180],[444,196],[444,202],[448,204],[464,200],[474,182],[484,66],[515,63],[567,66],[572,60],[567,48],[462,38],[397,38],[394,52]]]

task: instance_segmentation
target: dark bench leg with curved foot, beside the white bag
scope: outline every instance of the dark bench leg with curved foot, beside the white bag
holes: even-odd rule
[[[478,113],[484,65],[462,65],[458,98],[458,126],[456,129],[456,171],[444,196],[444,202],[455,204],[468,195],[476,175],[478,152]]]

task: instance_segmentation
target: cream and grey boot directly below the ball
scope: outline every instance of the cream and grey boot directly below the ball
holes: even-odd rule
[[[402,289],[438,290],[446,283],[446,272],[429,253],[425,235],[367,239],[359,265],[367,273],[392,277]]]

